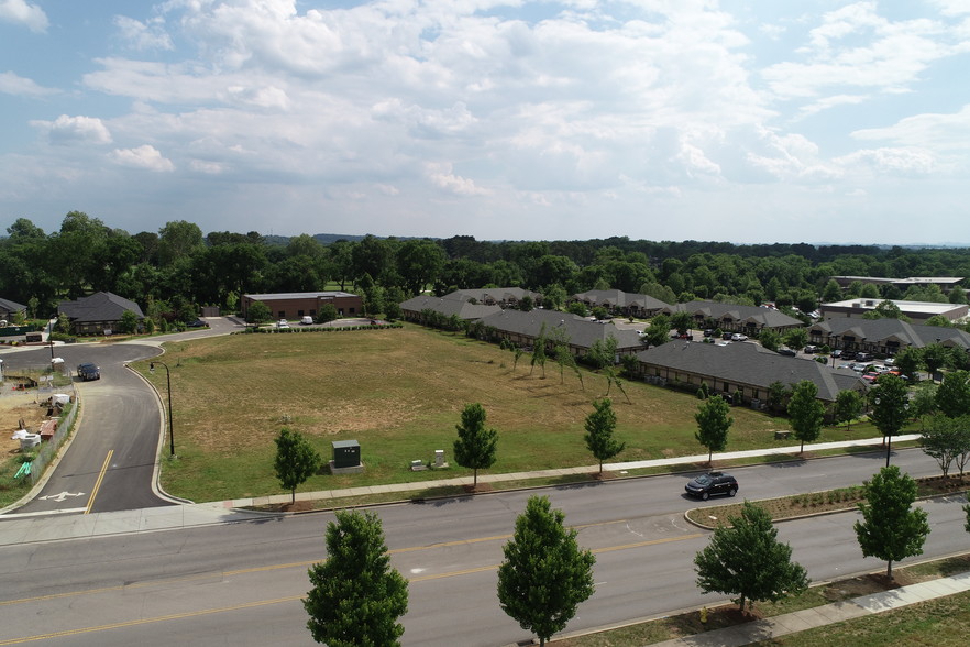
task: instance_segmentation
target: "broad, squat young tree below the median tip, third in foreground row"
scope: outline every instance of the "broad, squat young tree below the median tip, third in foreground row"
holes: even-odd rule
[[[694,557],[697,585],[705,593],[727,593],[746,611],[756,601],[776,602],[808,588],[807,571],[792,561],[792,547],[778,540],[771,515],[745,502],[729,526],[714,530],[710,544]]]

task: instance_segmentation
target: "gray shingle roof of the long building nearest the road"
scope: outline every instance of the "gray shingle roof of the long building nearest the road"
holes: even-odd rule
[[[852,372],[780,355],[754,343],[718,346],[677,340],[637,353],[637,358],[648,365],[765,388],[773,382],[790,385],[809,380],[818,387],[818,398],[827,402],[835,402],[840,391],[866,387],[866,382]]]

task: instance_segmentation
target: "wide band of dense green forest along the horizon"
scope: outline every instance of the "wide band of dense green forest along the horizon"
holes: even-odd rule
[[[243,294],[344,289],[370,312],[423,290],[525,287],[561,306],[589,289],[648,294],[666,303],[724,300],[814,310],[819,301],[866,296],[966,303],[962,288],[852,285],[835,275],[970,276],[970,249],[879,245],[732,244],[648,241],[626,237],[586,241],[448,239],[209,232],[177,220],[157,232],[131,234],[80,211],[59,231],[21,218],[0,239],[0,298],[27,306],[32,318],[57,303],[111,292],[146,315],[189,320],[201,306],[238,309]]]

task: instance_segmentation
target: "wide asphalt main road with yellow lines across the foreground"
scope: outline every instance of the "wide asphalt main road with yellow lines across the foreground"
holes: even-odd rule
[[[763,498],[860,483],[883,456],[839,457],[734,470],[741,495]],[[893,462],[937,473],[918,450]],[[539,491],[596,551],[596,593],[569,630],[664,615],[719,597],[703,595],[692,560],[709,534],[683,519],[699,503],[685,475]],[[527,639],[496,597],[496,567],[515,518],[536,491],[375,508],[395,568],[410,580],[405,645],[498,646]],[[962,497],[922,503],[933,533],[925,557],[965,551]],[[855,513],[779,525],[814,580],[880,570],[863,559]],[[300,599],[307,568],[324,555],[329,513],[185,530],[10,546],[0,550],[0,644],[309,645]],[[903,562],[906,563],[906,562]],[[44,640],[46,638],[46,640]]]

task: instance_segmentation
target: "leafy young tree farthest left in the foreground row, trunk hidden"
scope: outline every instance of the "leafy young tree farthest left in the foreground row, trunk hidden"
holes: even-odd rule
[[[309,569],[307,628],[330,647],[400,645],[408,582],[390,567],[381,519],[373,512],[338,512],[327,525],[327,560]]]

